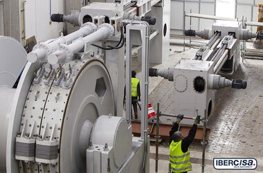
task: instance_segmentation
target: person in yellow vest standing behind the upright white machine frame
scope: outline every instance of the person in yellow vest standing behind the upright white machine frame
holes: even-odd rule
[[[126,86],[124,89],[123,102],[125,104]],[[134,119],[138,119],[137,101],[140,101],[140,80],[136,78],[136,71],[131,71],[131,104],[134,107]],[[132,111],[131,111],[132,117]]]

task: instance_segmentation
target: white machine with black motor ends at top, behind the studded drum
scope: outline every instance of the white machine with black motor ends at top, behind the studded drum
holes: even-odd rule
[[[151,18],[154,17],[153,18]],[[142,20],[150,26],[150,59],[152,63],[165,62],[169,57],[170,46],[170,1],[138,0],[138,1],[91,1],[88,6],[69,15],[53,14],[51,21],[69,22],[74,26],[82,26],[87,21],[94,24],[108,23],[120,27],[122,19]],[[156,20],[155,20],[156,19]],[[136,40],[136,41],[135,41]],[[134,36],[134,45],[139,45],[140,37]],[[141,50],[138,60],[141,60]]]

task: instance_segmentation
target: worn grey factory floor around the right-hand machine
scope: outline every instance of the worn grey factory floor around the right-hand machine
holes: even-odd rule
[[[197,48],[187,48],[185,52],[180,46],[171,46],[170,57],[163,64],[150,64],[157,69],[175,66],[181,58],[193,57]],[[140,78],[140,62],[133,58],[133,68]],[[211,133],[206,146],[205,172],[263,172],[263,60],[244,60],[235,79],[246,80],[248,86],[244,90],[221,89],[215,95],[213,115],[208,121]],[[160,103],[162,113],[172,114],[173,90],[172,82],[163,78],[149,78],[149,102],[156,110]],[[140,118],[140,113],[139,113]],[[164,123],[171,123],[175,118],[161,117]],[[161,143],[159,149],[158,172],[168,172],[169,149],[167,143]],[[201,172],[202,148],[200,143],[190,147],[192,172]],[[256,158],[255,170],[215,170],[212,158]],[[155,172],[155,146],[150,149],[150,172]]]

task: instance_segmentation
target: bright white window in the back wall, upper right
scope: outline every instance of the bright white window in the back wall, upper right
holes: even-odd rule
[[[235,18],[235,0],[217,0],[216,16]]]

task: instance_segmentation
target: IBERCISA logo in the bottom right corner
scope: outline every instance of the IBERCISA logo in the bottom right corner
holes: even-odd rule
[[[217,170],[255,170],[255,158],[214,158],[214,167]]]

